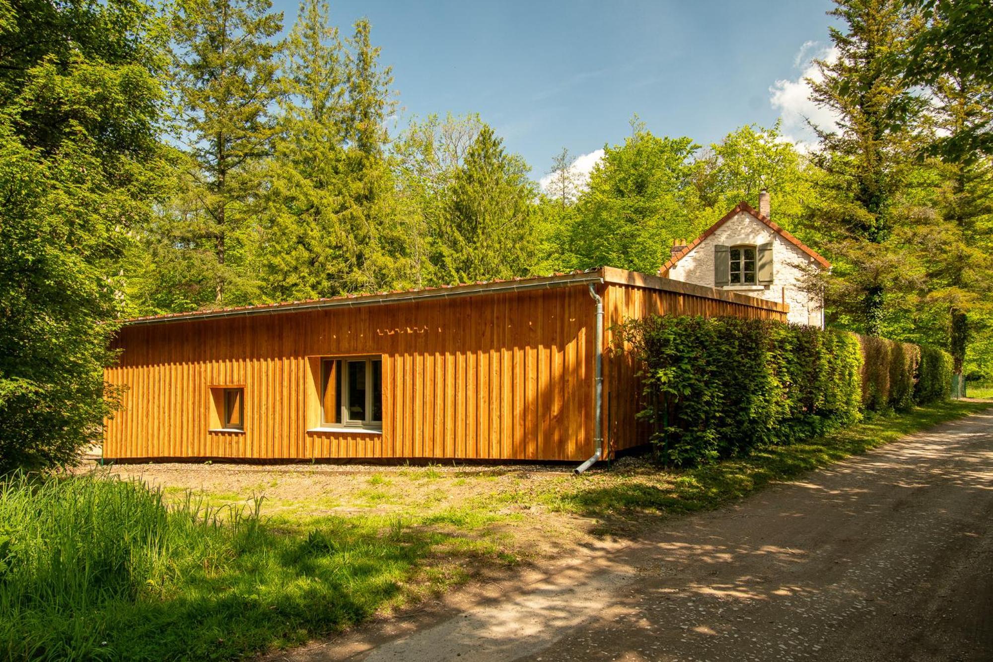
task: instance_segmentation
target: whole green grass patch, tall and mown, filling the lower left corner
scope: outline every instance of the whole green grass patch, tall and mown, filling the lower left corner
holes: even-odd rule
[[[0,482],[0,659],[229,659],[355,623],[444,541],[259,518],[98,475]]]

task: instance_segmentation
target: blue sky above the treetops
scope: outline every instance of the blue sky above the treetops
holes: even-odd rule
[[[372,22],[404,117],[480,112],[540,178],[562,147],[579,156],[630,132],[712,142],[786,115],[802,138],[799,83],[828,45],[829,0],[625,2],[332,1],[350,32]],[[275,0],[287,26],[297,2]],[[405,123],[405,121],[404,121]]]

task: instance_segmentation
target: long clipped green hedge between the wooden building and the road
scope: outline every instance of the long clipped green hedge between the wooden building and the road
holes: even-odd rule
[[[674,465],[949,395],[951,357],[909,343],[736,317],[654,316],[617,331],[642,365],[638,416]]]

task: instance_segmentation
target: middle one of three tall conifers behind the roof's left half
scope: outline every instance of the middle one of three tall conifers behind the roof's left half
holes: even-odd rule
[[[340,219],[348,177],[346,53],[327,2],[300,4],[281,64],[284,94],[261,214],[263,298],[333,296],[348,287],[355,249]]]

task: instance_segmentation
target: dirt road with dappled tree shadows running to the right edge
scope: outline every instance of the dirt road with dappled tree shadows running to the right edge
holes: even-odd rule
[[[287,657],[993,660],[993,411],[660,529]]]

